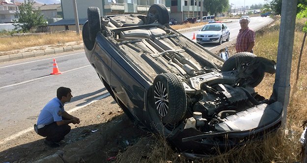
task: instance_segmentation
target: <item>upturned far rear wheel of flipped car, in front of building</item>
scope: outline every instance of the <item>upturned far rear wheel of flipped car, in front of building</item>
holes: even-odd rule
[[[147,23],[154,23],[156,20],[161,24],[169,23],[169,14],[164,4],[153,4],[148,9]]]

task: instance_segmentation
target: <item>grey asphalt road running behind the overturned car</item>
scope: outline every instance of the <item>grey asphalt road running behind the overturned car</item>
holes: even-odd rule
[[[252,17],[250,27],[254,30],[272,22],[270,18]],[[235,39],[240,24],[238,20],[226,23],[231,39]],[[183,32],[188,38],[198,30]],[[195,40],[194,40],[195,41]],[[216,44],[205,44],[209,50]],[[59,75],[50,75],[56,59]],[[84,50],[33,57],[0,63],[0,144],[19,133],[32,130],[37,116],[45,104],[56,97],[58,87],[72,90],[72,101],[65,105],[69,111],[108,94],[95,70],[87,61]]]

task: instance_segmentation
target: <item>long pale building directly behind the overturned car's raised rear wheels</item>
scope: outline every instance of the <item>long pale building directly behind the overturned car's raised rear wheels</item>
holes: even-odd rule
[[[170,0],[76,0],[79,26],[82,30],[87,20],[87,8],[98,7],[101,15],[147,14],[149,7],[155,3],[165,4],[170,11]],[[63,20],[49,24],[51,31],[76,30],[73,0],[61,0]]]

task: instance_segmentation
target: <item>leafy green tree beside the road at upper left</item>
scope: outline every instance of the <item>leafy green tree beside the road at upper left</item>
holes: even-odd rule
[[[34,0],[25,0],[22,5],[19,6],[18,20],[14,21],[16,30],[28,31],[32,26],[46,25],[43,15],[40,13],[40,9],[33,10]]]

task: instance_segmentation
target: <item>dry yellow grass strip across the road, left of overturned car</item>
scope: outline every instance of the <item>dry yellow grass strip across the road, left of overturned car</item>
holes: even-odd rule
[[[76,32],[57,32],[41,35],[0,37],[0,51],[46,45],[63,45],[67,42],[82,42],[82,36],[78,36]]]

